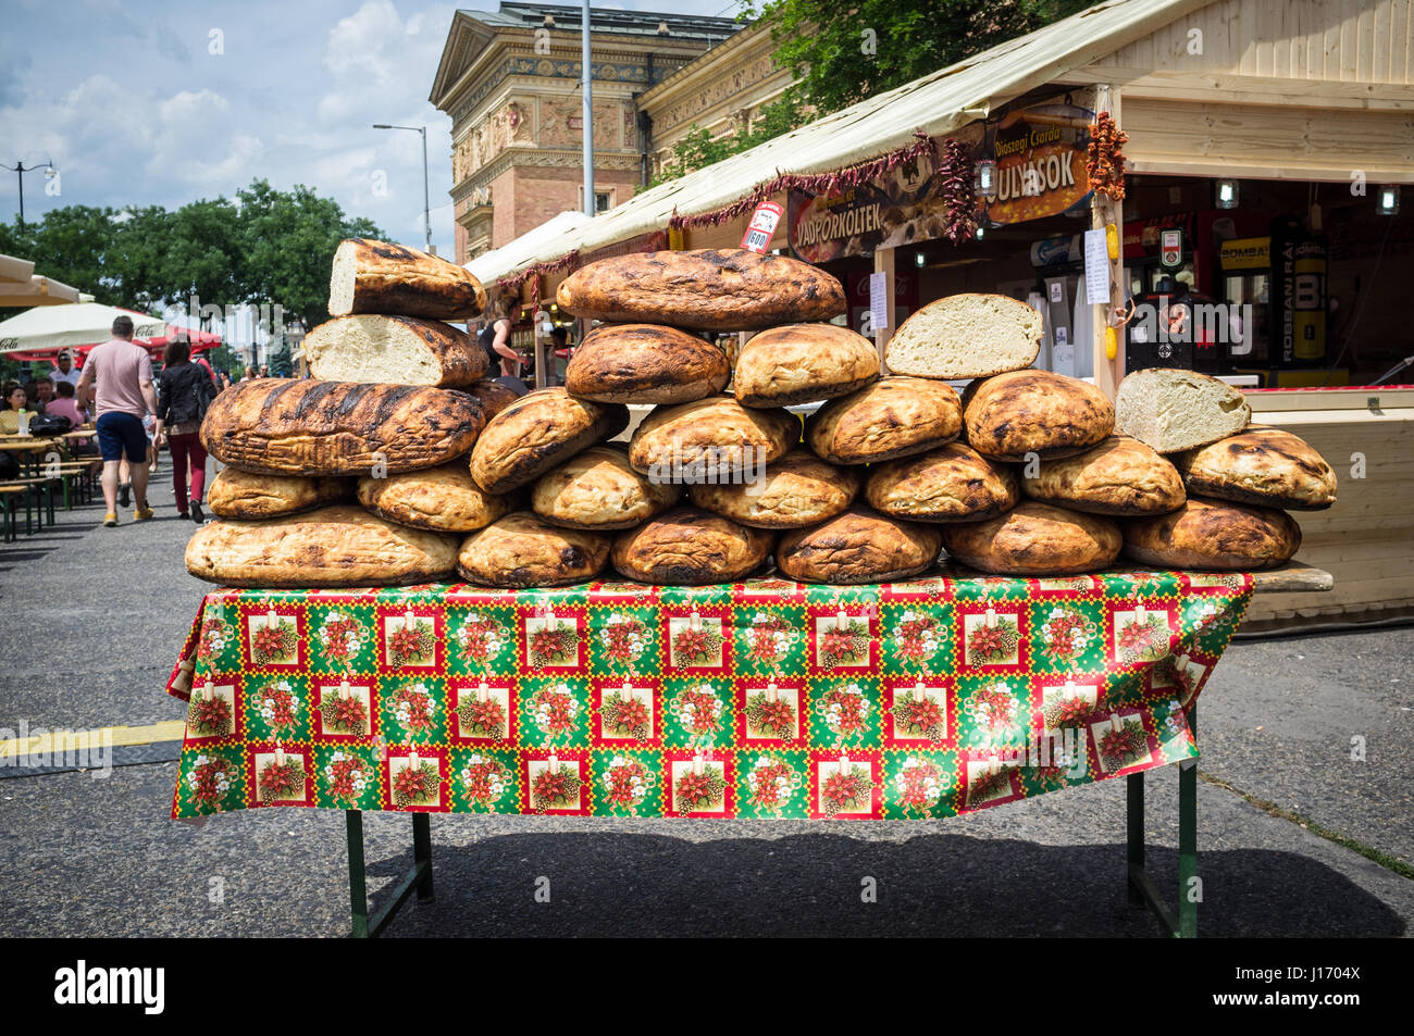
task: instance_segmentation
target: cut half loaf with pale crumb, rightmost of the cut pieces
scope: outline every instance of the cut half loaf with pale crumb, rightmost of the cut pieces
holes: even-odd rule
[[[1114,393],[1114,427],[1161,454],[1236,435],[1251,420],[1240,390],[1192,370],[1135,370]]]

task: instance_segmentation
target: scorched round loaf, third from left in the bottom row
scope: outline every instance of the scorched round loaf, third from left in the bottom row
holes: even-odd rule
[[[614,568],[669,587],[735,582],[759,568],[775,537],[697,507],[673,507],[614,540]]]

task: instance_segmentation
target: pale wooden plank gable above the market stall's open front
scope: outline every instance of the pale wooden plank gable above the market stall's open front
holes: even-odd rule
[[[1189,30],[1203,52],[1188,52]],[[1100,66],[1414,83],[1414,0],[1217,0]]]

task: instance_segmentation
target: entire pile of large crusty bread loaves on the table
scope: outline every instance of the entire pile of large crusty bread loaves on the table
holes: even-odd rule
[[[831,324],[840,283],[745,250],[636,253],[567,277],[600,321],[564,387],[510,397],[444,324],[485,305],[461,267],[345,242],[305,352],[318,380],[222,393],[202,427],[229,465],[223,520],[189,570],[255,587],[461,578],[553,587],[609,567],[648,584],[865,584],[946,547],[987,572],[1069,575],[1133,560],[1261,568],[1291,557],[1282,509],[1326,507],[1335,476],[1241,394],[1141,372],[1110,400],[1029,369],[1041,315],[1000,295],[915,312],[887,348]],[[756,332],[732,369],[701,332]],[[949,380],[969,382],[962,397]],[[730,386],[730,392],[728,390]],[[652,410],[626,445],[628,404]],[[805,423],[788,410],[820,404]],[[1189,498],[1189,493],[1193,496]],[[349,500],[356,499],[354,506]]]

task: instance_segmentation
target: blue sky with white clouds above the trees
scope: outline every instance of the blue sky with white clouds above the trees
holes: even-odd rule
[[[460,4],[495,10],[496,0]],[[731,14],[731,0],[597,7]],[[263,177],[307,184],[421,246],[427,126],[433,243],[451,254],[451,120],[427,102],[457,4],[420,0],[4,0],[0,164],[25,219],[59,205],[164,205]],[[386,194],[375,194],[376,174]],[[18,208],[0,171],[0,219]]]

